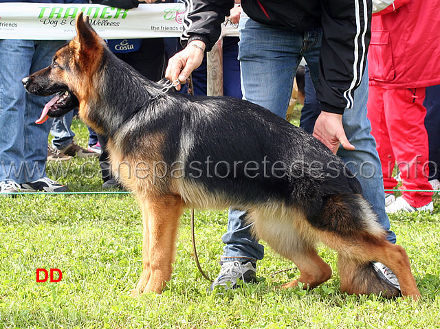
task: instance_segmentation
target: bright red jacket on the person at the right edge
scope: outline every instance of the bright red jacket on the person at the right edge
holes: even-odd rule
[[[395,0],[373,14],[368,59],[370,85],[440,84],[440,0]]]

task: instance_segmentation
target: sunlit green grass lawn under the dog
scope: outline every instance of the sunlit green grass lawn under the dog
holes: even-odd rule
[[[87,129],[74,121],[78,144]],[[89,160],[87,160],[89,161]],[[98,161],[74,159],[55,177],[72,191],[100,191]],[[85,165],[86,163],[86,165]],[[207,293],[192,257],[190,220],[181,220],[173,278],[162,295],[129,297],[141,272],[140,210],[133,196],[25,195],[0,201],[0,328],[440,328],[439,206],[434,214],[391,216],[423,297],[390,301],[339,291],[336,253],[319,248],[333,277],[311,291],[280,291],[296,269],[269,247],[259,284]],[[203,269],[219,271],[227,213],[196,212]],[[37,268],[63,280],[36,283]]]

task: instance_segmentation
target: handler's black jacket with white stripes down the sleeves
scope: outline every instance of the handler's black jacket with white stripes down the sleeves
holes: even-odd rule
[[[234,0],[186,0],[182,44],[194,39],[209,51]],[[243,11],[259,23],[304,31],[322,27],[316,97],[322,111],[340,113],[353,106],[370,42],[371,0],[241,0]],[[256,45],[258,47],[258,45]]]

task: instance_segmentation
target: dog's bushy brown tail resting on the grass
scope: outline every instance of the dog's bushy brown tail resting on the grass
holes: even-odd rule
[[[340,290],[350,295],[382,295],[386,298],[399,297],[400,289],[382,277],[382,273],[372,262],[360,264],[344,256],[338,259],[340,273]]]

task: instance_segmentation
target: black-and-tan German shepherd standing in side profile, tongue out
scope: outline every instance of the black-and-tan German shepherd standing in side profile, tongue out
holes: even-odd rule
[[[171,278],[186,207],[247,211],[257,238],[292,260],[313,288],[331,277],[318,242],[338,251],[340,289],[417,298],[406,251],[388,242],[357,179],[323,144],[245,100],[172,93],[116,58],[80,13],[77,36],[23,84],[54,95],[41,118],[76,106],[109,139],[113,168],[140,202],[143,271],[132,295],[161,293]],[[386,264],[401,291],[374,271]]]

